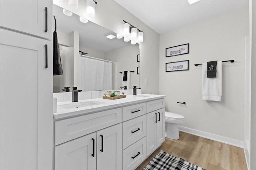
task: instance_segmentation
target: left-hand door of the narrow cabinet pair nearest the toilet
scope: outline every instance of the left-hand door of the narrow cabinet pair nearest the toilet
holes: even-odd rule
[[[153,111],[146,115],[146,155],[149,156],[157,148],[157,113]]]

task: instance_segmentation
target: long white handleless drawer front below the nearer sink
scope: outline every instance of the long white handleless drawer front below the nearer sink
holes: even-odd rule
[[[122,109],[111,109],[55,122],[55,145],[122,121]]]

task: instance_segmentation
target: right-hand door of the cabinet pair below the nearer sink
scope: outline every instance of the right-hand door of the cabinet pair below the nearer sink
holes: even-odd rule
[[[122,124],[97,132],[97,170],[122,169]]]

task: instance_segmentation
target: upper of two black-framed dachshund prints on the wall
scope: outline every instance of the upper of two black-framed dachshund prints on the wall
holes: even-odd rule
[[[177,45],[165,49],[165,57],[188,54],[188,44]]]

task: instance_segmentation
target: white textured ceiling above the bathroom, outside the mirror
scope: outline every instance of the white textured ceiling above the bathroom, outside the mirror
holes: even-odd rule
[[[115,0],[157,33],[249,6],[248,0]]]

